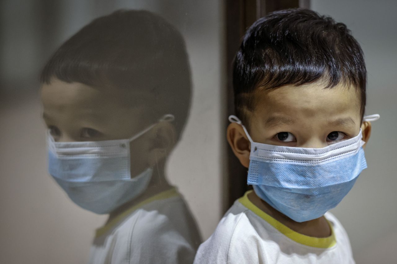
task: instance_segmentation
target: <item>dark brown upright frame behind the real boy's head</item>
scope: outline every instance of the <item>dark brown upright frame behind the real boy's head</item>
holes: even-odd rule
[[[257,19],[267,13],[287,8],[309,8],[310,0],[226,0],[226,114],[234,114],[232,63],[237,50],[241,44],[241,38],[248,27]],[[229,122],[225,118],[225,130]],[[240,164],[228,144],[226,149],[226,166],[224,186],[224,208],[225,212],[233,205],[234,201],[252,189],[247,185],[247,168]]]

